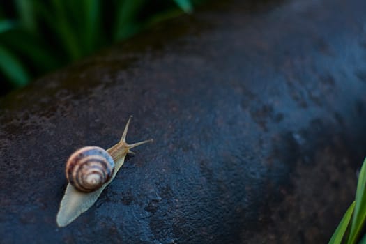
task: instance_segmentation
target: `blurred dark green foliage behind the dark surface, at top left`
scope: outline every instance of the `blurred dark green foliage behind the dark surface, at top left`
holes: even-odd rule
[[[203,0],[0,1],[0,94]]]

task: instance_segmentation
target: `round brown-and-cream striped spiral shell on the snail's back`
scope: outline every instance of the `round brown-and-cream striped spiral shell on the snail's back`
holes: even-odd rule
[[[109,181],[114,160],[103,148],[85,146],[75,151],[66,163],[66,178],[81,192],[93,192]]]

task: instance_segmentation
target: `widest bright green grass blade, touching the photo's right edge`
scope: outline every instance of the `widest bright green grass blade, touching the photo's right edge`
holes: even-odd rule
[[[352,218],[351,231],[349,233],[348,244],[356,243],[360,236],[360,231],[366,219],[366,158],[363,161],[360,175],[358,176],[356,190],[356,206]]]

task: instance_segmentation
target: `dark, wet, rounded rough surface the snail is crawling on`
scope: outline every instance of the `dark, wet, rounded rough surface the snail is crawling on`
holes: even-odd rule
[[[366,153],[366,2],[243,2],[2,98],[0,242],[326,243]],[[130,114],[155,142],[57,228],[68,155]]]

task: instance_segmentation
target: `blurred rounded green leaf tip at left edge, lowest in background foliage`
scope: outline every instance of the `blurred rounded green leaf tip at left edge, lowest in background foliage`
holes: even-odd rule
[[[0,46],[0,70],[13,86],[25,86],[29,81],[28,74],[20,61],[3,46]]]

